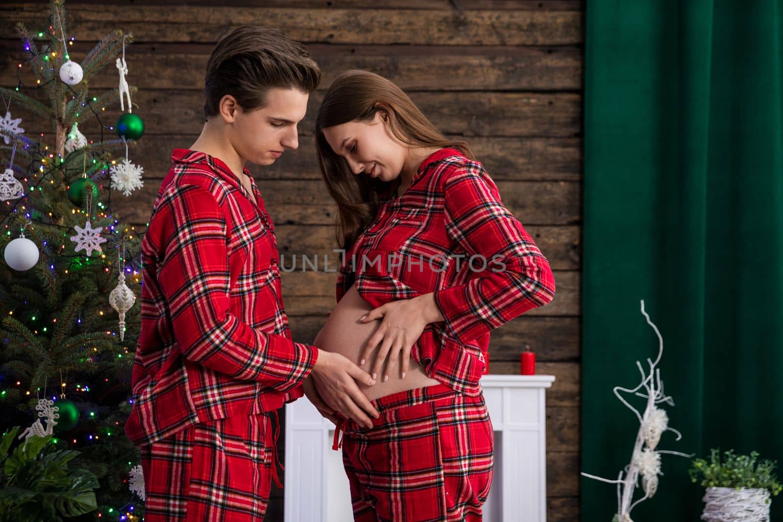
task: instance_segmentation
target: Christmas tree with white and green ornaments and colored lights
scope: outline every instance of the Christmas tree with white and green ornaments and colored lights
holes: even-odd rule
[[[60,418],[49,445],[80,452],[71,466],[99,481],[98,509],[82,518],[140,520],[143,503],[129,488],[139,455],[123,427],[139,334],[141,231],[111,211],[112,198],[142,185],[142,169],[128,158],[143,133],[132,113],[135,88],[124,80],[132,36],[114,31],[78,61],[60,0],[42,9],[40,27],[16,28],[17,77],[0,88],[2,430],[30,427],[38,400],[53,400]],[[96,74],[118,74],[118,88],[88,92]]]

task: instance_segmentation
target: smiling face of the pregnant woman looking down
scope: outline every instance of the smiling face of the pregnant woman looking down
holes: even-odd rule
[[[348,121],[323,129],[334,153],[348,161],[355,175],[368,175],[390,182],[402,172],[408,147],[389,129],[385,113],[375,113],[373,121]]]

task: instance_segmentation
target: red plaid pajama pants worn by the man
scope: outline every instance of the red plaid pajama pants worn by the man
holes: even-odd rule
[[[143,446],[144,520],[263,520],[277,479],[276,438],[260,414],[193,424]]]

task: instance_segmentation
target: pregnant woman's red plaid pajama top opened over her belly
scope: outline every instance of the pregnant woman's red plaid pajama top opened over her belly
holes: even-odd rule
[[[482,164],[456,149],[431,154],[402,196],[381,203],[345,253],[337,301],[354,283],[373,307],[435,292],[446,321],[428,325],[411,355],[471,396],[481,394],[489,331],[554,297],[547,259]]]

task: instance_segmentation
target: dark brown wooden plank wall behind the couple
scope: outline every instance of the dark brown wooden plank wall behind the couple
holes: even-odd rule
[[[337,74],[351,68],[391,78],[448,135],[473,146],[500,193],[547,255],[557,279],[552,304],[515,319],[492,336],[493,373],[518,373],[530,344],[539,373],[557,376],[547,394],[549,520],[576,520],[579,498],[579,369],[582,178],[583,2],[580,0],[235,0],[70,2],[68,36],[79,61],[106,32],[132,32],[128,82],[146,122],[131,157],[145,185],[129,198],[115,193],[121,221],[143,225],[174,147],[197,137],[203,117],[207,57],[220,34],[240,23],[280,27],[304,42],[323,69],[300,125],[300,149],[266,169],[251,169],[277,224],[281,253],[329,254],[334,207],[319,178],[312,137],[316,110]],[[2,85],[16,85],[23,59],[13,23],[43,30],[45,4],[0,6]],[[96,92],[117,85],[114,67],[92,81]],[[113,124],[117,103],[106,110]],[[50,133],[24,117],[27,132]],[[81,129],[89,139],[95,124]],[[290,257],[289,257],[290,259]],[[296,340],[312,341],[334,304],[333,273],[283,274]],[[282,520],[280,491],[268,520]]]

